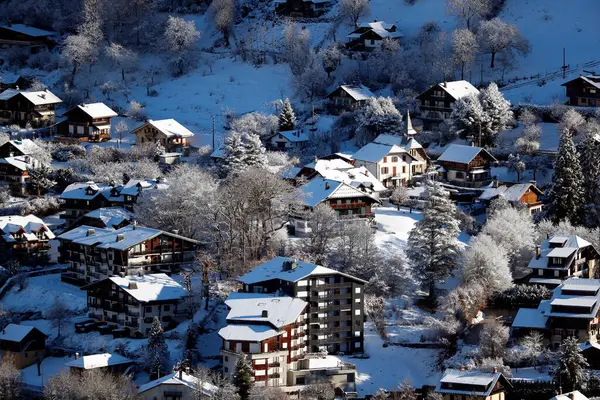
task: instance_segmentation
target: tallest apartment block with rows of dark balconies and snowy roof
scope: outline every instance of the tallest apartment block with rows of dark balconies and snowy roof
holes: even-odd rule
[[[307,303],[309,353],[364,352],[364,280],[287,257],[275,257],[238,280],[244,292],[279,292]]]

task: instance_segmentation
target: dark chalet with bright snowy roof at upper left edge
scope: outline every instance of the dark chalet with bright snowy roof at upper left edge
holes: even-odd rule
[[[62,100],[49,90],[20,91],[7,89],[0,93],[0,123],[31,124],[37,128],[54,123],[54,109]]]

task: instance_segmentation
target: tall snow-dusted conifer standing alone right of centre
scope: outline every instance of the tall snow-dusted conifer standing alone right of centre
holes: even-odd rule
[[[431,299],[435,282],[448,277],[457,266],[459,224],[448,193],[438,182],[430,182],[423,217],[408,236],[406,255],[417,279],[429,288]]]

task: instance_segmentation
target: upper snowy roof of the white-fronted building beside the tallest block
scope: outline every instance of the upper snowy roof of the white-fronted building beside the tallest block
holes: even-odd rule
[[[294,323],[307,305],[295,297],[237,292],[232,292],[225,304],[230,308],[227,321],[267,322],[274,328]]]

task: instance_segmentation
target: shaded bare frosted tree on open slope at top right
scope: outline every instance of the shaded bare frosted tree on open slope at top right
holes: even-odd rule
[[[500,52],[518,52],[526,55],[530,51],[529,42],[525,39],[516,25],[509,24],[496,17],[481,21],[477,30],[481,49],[491,54],[490,68],[494,68],[496,55]]]

